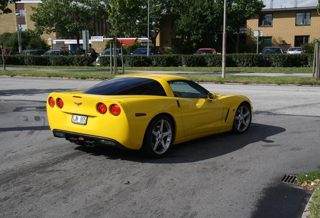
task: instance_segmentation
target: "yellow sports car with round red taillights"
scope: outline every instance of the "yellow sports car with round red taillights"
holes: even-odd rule
[[[85,146],[142,149],[163,157],[173,144],[217,133],[245,133],[251,101],[211,93],[165,74],[124,74],[86,91],[52,92],[47,100],[55,137]]]

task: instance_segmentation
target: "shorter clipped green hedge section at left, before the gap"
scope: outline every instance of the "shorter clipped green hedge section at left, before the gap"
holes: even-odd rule
[[[3,64],[2,59],[0,63]],[[12,55],[5,56],[6,65],[26,66],[92,66],[90,56],[30,56]]]

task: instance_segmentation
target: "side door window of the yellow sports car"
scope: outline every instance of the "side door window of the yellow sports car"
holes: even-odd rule
[[[192,81],[179,80],[168,82],[174,95],[182,98],[207,98],[208,92]]]

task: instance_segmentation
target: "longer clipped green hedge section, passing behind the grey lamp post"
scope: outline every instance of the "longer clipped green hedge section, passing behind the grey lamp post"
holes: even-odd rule
[[[99,58],[102,66],[110,66],[110,57]],[[226,67],[311,67],[313,55],[228,54]],[[121,66],[118,57],[117,65]],[[222,67],[222,55],[155,55],[125,56],[125,67]]]

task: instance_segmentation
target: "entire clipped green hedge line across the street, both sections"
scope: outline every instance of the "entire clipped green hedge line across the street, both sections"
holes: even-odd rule
[[[222,67],[222,55],[154,55],[124,56],[125,67]],[[7,65],[29,66],[92,66],[90,56],[5,56]],[[2,64],[2,60],[0,61]],[[101,66],[110,66],[110,57],[99,58]],[[117,57],[117,65],[121,66],[121,57]],[[257,55],[227,54],[226,67],[311,67],[312,54],[297,55]]]

